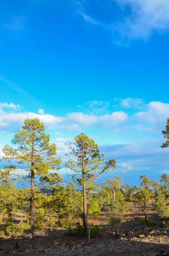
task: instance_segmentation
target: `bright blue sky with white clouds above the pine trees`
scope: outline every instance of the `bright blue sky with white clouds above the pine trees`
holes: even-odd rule
[[[84,132],[125,183],[168,173],[168,13],[166,0],[1,1],[0,157],[39,117],[63,161]]]

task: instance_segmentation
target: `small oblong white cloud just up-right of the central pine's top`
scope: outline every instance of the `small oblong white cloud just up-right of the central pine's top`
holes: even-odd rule
[[[99,116],[99,121],[104,125],[118,125],[128,120],[128,116],[123,111],[113,112],[111,115]]]

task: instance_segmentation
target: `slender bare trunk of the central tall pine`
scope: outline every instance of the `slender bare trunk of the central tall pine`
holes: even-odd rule
[[[83,168],[83,229],[84,229],[84,233],[87,233],[88,228],[87,228],[87,201],[86,201],[84,148],[82,148],[82,168]]]

